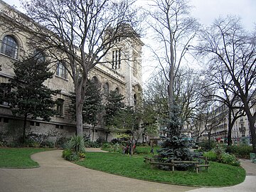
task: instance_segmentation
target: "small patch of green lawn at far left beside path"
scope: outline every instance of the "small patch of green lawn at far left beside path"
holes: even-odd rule
[[[31,155],[47,151],[46,148],[0,148],[0,168],[33,168],[38,163],[31,159]]]

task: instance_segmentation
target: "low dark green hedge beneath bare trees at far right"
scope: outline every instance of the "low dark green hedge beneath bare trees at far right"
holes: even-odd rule
[[[246,144],[228,146],[226,151],[230,154],[235,154],[241,158],[250,159],[250,153],[253,152],[252,146]]]

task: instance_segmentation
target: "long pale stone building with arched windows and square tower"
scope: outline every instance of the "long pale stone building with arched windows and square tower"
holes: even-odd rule
[[[12,13],[15,12],[21,14],[0,0],[1,22],[8,22],[6,18],[11,17]],[[12,63],[24,55],[36,51],[33,47],[28,46],[28,36],[29,34],[24,31],[9,30],[4,25],[0,26],[0,92],[2,94],[11,91],[6,87],[6,83],[14,77]],[[136,105],[141,97],[142,46],[143,43],[139,38],[125,38],[118,41],[117,46],[112,48],[104,58],[108,63],[96,65],[89,75],[91,79],[100,82],[102,92],[117,90],[124,95],[124,102],[130,106]],[[28,119],[29,130],[36,133],[55,132],[72,135],[75,134],[75,121],[68,109],[70,107],[70,92],[74,90],[73,80],[62,63],[55,63],[53,70],[55,75],[52,79],[46,80],[44,84],[50,89],[61,90],[60,94],[54,98],[59,101],[58,106],[56,106],[59,115],[52,117],[50,122],[45,122],[40,118]],[[22,124],[21,121],[21,117],[13,116],[9,103],[4,101],[0,103],[0,137],[6,132],[13,132],[12,134],[15,135],[18,132],[17,127]],[[90,125],[84,124],[84,133],[91,135]],[[95,139],[97,137],[105,137],[104,125],[102,124],[99,124],[95,129]],[[109,140],[112,137],[109,136]]]

